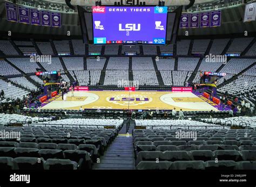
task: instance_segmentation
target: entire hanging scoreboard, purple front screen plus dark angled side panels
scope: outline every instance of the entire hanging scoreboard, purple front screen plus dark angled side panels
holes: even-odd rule
[[[175,44],[182,7],[167,6],[78,7],[85,44],[170,45]]]

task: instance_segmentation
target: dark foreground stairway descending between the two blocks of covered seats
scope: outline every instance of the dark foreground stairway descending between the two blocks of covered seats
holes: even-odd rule
[[[132,135],[118,135],[93,169],[135,169]]]

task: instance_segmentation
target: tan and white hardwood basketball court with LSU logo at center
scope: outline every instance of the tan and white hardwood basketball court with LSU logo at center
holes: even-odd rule
[[[209,100],[210,101],[210,100]],[[210,103],[210,102],[209,102]],[[207,99],[191,92],[168,91],[76,91],[60,95],[43,103],[43,109],[134,109],[134,110],[176,110],[217,111]]]

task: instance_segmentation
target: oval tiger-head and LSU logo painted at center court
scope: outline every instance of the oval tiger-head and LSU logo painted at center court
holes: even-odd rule
[[[152,98],[146,95],[131,94],[114,95],[106,98],[107,102],[122,106],[138,106],[152,102]]]

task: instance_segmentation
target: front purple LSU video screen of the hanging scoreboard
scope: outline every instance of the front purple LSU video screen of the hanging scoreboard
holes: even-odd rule
[[[166,6],[93,6],[92,19],[94,44],[166,44]]]

